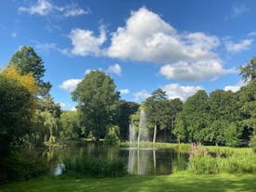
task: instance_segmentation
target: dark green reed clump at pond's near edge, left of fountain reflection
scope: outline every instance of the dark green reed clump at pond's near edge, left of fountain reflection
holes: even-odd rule
[[[63,160],[63,164],[65,165],[65,172],[71,171],[96,178],[119,177],[127,174],[126,165],[122,159],[73,158]]]

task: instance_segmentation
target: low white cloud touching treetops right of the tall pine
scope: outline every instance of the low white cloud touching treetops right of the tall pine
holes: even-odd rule
[[[188,96],[194,95],[198,90],[203,90],[201,86],[183,86],[178,83],[166,84],[161,87],[166,92],[168,98],[180,98],[185,101]]]

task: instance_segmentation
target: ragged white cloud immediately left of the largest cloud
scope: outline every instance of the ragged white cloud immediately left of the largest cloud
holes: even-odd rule
[[[73,29],[70,32],[70,39],[73,45],[71,53],[78,56],[99,56],[101,55],[100,46],[106,41],[106,32],[104,27],[100,27],[98,37],[94,36],[94,32],[81,29]]]

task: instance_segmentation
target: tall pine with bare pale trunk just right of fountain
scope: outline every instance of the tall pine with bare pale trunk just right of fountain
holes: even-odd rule
[[[165,110],[164,101],[167,100],[166,93],[161,89],[155,90],[151,96],[147,97],[145,101],[145,108],[147,112],[147,122],[149,126],[154,127],[153,145],[156,142],[157,128],[163,125],[163,114]]]

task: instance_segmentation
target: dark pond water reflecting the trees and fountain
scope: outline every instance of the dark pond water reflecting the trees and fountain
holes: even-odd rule
[[[47,159],[52,172],[62,173],[65,159],[100,157],[106,160],[122,159],[127,163],[128,173],[132,174],[170,174],[186,169],[189,154],[173,148],[125,148],[109,147],[103,144],[69,144],[68,147],[53,148],[47,151]]]

